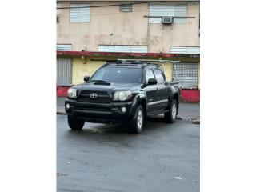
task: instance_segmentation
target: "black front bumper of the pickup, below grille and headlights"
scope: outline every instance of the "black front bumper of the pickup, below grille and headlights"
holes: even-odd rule
[[[66,108],[66,104],[70,108]],[[90,103],[77,102],[66,98],[65,110],[66,114],[72,115],[75,118],[81,118],[87,122],[126,122],[134,114],[135,103],[130,102],[110,102],[110,103]],[[126,112],[121,111],[122,107],[126,107]]]

